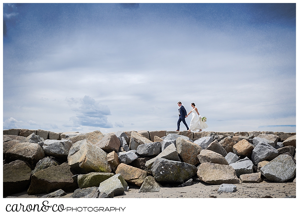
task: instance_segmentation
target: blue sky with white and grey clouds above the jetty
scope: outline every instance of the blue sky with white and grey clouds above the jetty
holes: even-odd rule
[[[295,4],[3,4],[3,26],[4,129],[170,131],[181,101],[207,131],[296,131]]]

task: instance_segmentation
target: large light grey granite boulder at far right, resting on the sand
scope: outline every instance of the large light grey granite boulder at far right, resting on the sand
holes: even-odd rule
[[[289,155],[281,154],[260,169],[272,182],[285,182],[295,176],[296,164]]]

